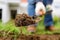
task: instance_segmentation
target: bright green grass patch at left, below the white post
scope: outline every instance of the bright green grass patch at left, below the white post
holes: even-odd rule
[[[10,33],[13,33],[14,35],[20,34],[20,30],[17,27],[15,27],[12,22],[2,24],[0,21],[0,32],[3,32],[3,36],[9,35]]]

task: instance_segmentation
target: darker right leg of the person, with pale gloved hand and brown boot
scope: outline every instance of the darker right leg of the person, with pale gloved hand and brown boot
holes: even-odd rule
[[[49,30],[49,31],[54,30],[53,18],[52,18],[52,8],[51,8],[52,3],[53,3],[53,0],[43,0],[43,4],[46,7],[46,14],[45,14],[45,18],[44,18],[44,24],[45,24],[45,29]]]

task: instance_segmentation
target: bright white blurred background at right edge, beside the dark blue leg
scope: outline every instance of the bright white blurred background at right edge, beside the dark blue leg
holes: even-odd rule
[[[53,13],[52,13],[53,17],[57,16],[60,18],[60,0],[54,0],[52,7],[53,7]]]

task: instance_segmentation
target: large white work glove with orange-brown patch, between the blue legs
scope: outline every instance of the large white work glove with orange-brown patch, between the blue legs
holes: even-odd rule
[[[46,13],[45,6],[42,2],[36,3],[35,13],[37,16],[41,16],[41,15],[44,15]]]

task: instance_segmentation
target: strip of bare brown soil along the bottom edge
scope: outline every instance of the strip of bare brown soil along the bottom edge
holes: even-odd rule
[[[0,37],[0,40],[14,40],[14,37]],[[60,40],[60,35],[19,35],[16,40]]]

